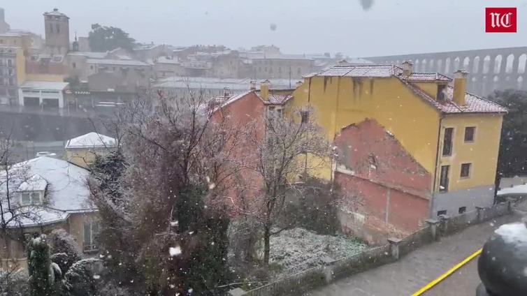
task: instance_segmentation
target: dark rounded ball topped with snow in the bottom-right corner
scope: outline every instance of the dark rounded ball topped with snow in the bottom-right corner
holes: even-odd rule
[[[477,272],[477,296],[527,295],[527,225],[501,225],[484,244]]]

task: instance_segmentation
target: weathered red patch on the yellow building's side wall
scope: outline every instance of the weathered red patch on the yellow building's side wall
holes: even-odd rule
[[[369,242],[417,230],[429,215],[431,175],[374,119],[335,138],[342,227]],[[352,215],[350,215],[352,214]]]

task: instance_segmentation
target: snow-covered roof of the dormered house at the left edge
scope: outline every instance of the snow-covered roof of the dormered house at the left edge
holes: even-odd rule
[[[62,159],[41,156],[17,163],[9,171],[12,177],[10,179],[10,187],[12,188],[20,188],[26,182],[23,177],[20,177],[22,175],[31,176],[29,179],[35,182],[36,188],[41,188],[44,181],[47,184],[45,186],[44,205],[18,208],[17,212],[31,212],[31,215],[25,215],[19,221],[25,227],[64,221],[69,213],[93,212],[95,210],[89,202],[89,190],[86,185],[89,171],[85,168],[80,168]],[[5,191],[4,173],[0,175],[0,193],[5,193]],[[6,201],[1,200],[1,202],[5,203]],[[13,221],[10,226],[18,227],[19,223]]]

